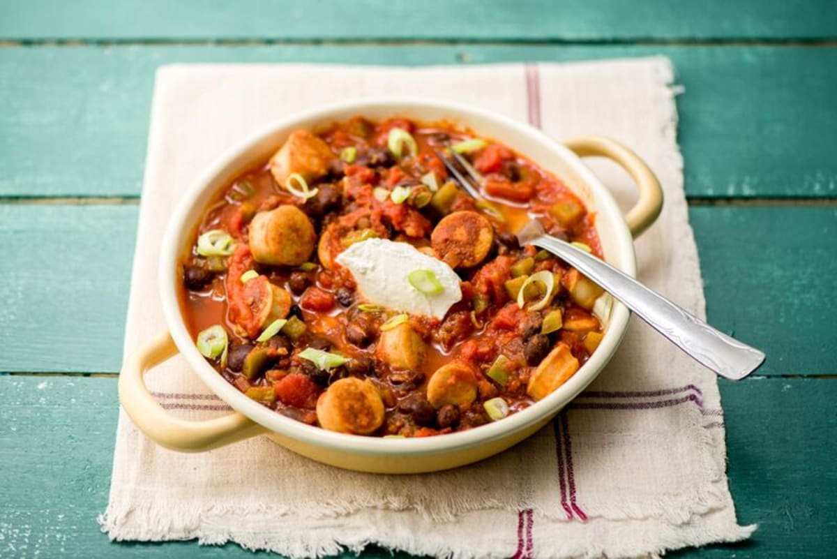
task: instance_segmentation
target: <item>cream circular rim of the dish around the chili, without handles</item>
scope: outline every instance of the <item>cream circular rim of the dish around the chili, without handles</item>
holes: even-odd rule
[[[578,176],[582,178],[585,185],[593,193],[593,199],[597,207],[597,219],[602,218],[603,214],[606,214],[606,219],[613,219],[616,222],[610,223],[608,221],[611,227],[616,230],[616,251],[623,253],[623,257],[626,257],[619,269],[622,269],[622,271],[631,276],[636,274],[634,241],[624,222],[624,214],[616,205],[614,197],[598,180],[598,177],[583,164],[580,157],[560,142],[547,136],[544,132],[526,123],[515,121],[489,110],[475,109],[468,105],[446,100],[402,96],[347,100],[329,105],[320,105],[315,109],[300,111],[290,117],[271,122],[270,125],[264,126],[259,131],[250,134],[244,140],[231,146],[187,188],[186,193],[180,202],[177,203],[177,208],[172,213],[172,217],[169,218],[162,240],[158,269],[158,285],[163,314],[166,317],[169,332],[177,345],[177,349],[186,359],[189,367],[193,369],[193,372],[198,374],[198,377],[201,378],[210,390],[215,392],[218,397],[221,397],[236,412],[243,413],[264,428],[269,429],[269,433],[266,434],[276,432],[290,438],[304,440],[329,449],[347,450],[352,453],[403,456],[429,454],[452,449],[465,449],[503,438],[521,429],[531,427],[531,425],[557,413],[567,403],[573,400],[573,398],[577,397],[590,382],[593,382],[593,379],[598,377],[598,374],[619,348],[627,330],[630,313],[618,300],[614,300],[608,328],[605,331],[598,350],[561,387],[558,387],[542,400],[532,403],[528,408],[513,413],[500,421],[480,425],[480,427],[465,431],[445,433],[444,435],[434,437],[403,439],[364,437],[331,432],[324,428],[300,423],[295,421],[295,419],[287,418],[280,413],[276,413],[272,409],[265,408],[245,396],[243,392],[239,392],[239,390],[224,380],[198,352],[182,318],[182,312],[177,299],[175,280],[177,262],[182,255],[182,247],[178,243],[179,238],[185,228],[193,227],[193,223],[187,223],[187,219],[189,214],[193,212],[196,204],[201,201],[205,194],[212,195],[214,193],[214,188],[213,192],[207,192],[208,187],[213,182],[217,182],[218,177],[222,173],[226,175],[226,172],[229,172],[228,167],[236,160],[244,156],[248,151],[252,151],[269,136],[273,136],[279,131],[291,130],[304,121],[317,119],[324,123],[333,121],[337,118],[336,114],[341,112],[350,111],[358,115],[363,115],[364,110],[368,111],[373,109],[390,109],[393,115],[398,115],[399,110],[402,112],[412,109],[441,110],[449,112],[452,121],[456,121],[457,117],[461,116],[468,116],[475,120],[494,121],[496,124],[511,128],[517,133],[528,137],[531,141],[540,143],[542,146],[546,146],[548,150],[554,151],[564,162],[567,162],[568,165],[573,167],[573,171],[578,173]],[[598,230],[598,226],[596,228]]]

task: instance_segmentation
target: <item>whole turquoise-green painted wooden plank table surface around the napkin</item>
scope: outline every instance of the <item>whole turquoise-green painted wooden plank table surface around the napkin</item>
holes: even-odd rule
[[[247,557],[111,544],[116,375],[154,70],[172,62],[481,64],[664,54],[710,321],[768,353],[721,382],[752,541],[837,536],[837,3],[246,0],[0,6],[0,556]],[[367,556],[388,556],[370,549]]]

